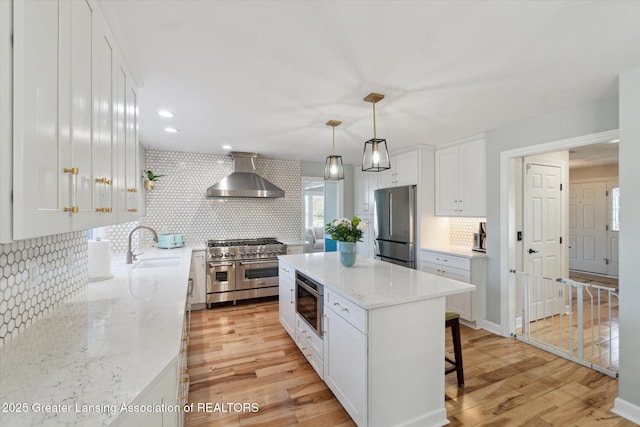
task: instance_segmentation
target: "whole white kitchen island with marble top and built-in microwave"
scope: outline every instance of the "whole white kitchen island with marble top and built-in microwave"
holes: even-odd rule
[[[475,286],[362,257],[345,268],[335,252],[279,258],[281,322],[359,426],[448,424],[445,297]],[[324,287],[320,335],[291,313],[294,272]]]

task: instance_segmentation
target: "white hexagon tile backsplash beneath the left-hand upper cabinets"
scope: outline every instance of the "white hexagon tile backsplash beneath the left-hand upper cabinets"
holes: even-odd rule
[[[87,233],[0,245],[0,346],[87,284]]]

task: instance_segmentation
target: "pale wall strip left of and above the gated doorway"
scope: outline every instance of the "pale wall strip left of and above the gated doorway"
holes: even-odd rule
[[[608,98],[486,132],[487,320],[500,324],[500,153],[618,128],[618,99]]]

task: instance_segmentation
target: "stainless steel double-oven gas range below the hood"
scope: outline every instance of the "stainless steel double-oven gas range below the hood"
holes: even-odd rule
[[[278,295],[278,255],[287,245],[275,238],[207,241],[207,305]]]

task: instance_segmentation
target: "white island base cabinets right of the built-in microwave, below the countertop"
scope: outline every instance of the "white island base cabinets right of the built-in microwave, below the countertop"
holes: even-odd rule
[[[444,425],[444,298],[365,310],[324,291],[324,381],[356,424]]]

